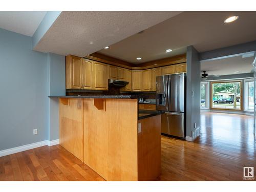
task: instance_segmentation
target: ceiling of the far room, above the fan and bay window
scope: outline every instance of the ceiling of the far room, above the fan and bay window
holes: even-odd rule
[[[239,73],[250,73],[253,57],[242,58],[242,56],[229,57],[211,61],[201,61],[201,71],[209,75],[231,75]],[[239,71],[239,73],[234,73]]]

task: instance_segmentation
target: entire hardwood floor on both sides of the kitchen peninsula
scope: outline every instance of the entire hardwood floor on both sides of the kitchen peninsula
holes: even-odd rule
[[[202,113],[201,134],[195,142],[162,136],[162,174],[157,180],[239,181],[243,180],[243,166],[255,165],[253,117]],[[104,179],[55,145],[0,157],[0,181]]]

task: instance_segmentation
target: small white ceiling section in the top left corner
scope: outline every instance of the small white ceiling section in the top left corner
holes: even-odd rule
[[[33,36],[46,11],[0,11],[0,28]]]

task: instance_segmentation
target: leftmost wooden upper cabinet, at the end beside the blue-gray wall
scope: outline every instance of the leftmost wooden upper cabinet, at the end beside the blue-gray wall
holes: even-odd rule
[[[66,57],[66,89],[82,88],[82,58]]]

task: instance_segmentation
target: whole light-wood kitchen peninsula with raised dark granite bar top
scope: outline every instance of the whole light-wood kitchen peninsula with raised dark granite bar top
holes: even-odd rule
[[[60,145],[105,180],[160,175],[161,115],[139,113],[142,95],[50,97],[59,98]]]

